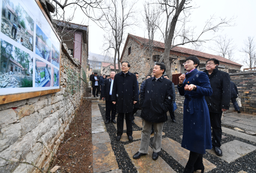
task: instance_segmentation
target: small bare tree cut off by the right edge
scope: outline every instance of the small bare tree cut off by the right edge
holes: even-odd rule
[[[253,39],[254,37],[248,37],[247,40],[244,40],[244,47],[241,50],[245,54],[243,62],[249,68],[256,67],[256,43]]]

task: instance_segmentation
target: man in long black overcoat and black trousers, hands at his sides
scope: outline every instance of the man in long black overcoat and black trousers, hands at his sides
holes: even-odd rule
[[[129,71],[129,62],[122,62],[121,69],[122,71],[114,77],[112,90],[112,102],[116,104],[118,111],[116,140],[121,139],[125,115],[126,134],[129,141],[132,141],[132,111],[134,104],[139,100],[137,78]]]

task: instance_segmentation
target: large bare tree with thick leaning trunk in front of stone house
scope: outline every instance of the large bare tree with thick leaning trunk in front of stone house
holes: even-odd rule
[[[160,8],[160,17],[163,17],[162,25],[159,29],[163,35],[165,43],[165,51],[160,62],[163,60],[166,65],[166,74],[172,79],[172,70],[170,65],[170,50],[178,45],[185,45],[187,43],[200,43],[207,40],[201,40],[201,36],[205,32],[217,32],[224,26],[233,26],[234,17],[227,19],[227,17],[219,18],[218,20],[211,16],[203,30],[195,33],[195,27],[187,27],[186,24],[189,20],[191,9],[195,8],[191,4],[192,0],[157,0]],[[208,39],[211,40],[212,38]]]

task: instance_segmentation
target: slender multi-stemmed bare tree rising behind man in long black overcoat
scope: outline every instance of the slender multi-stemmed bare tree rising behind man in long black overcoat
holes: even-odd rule
[[[105,51],[114,50],[114,71],[116,72],[116,57],[118,69],[120,68],[120,48],[125,41],[124,34],[128,27],[137,24],[137,11],[135,2],[127,0],[110,0],[106,7],[102,7],[102,21],[99,23],[101,28],[105,28],[107,34],[104,35]],[[106,28],[107,26],[107,28]]]

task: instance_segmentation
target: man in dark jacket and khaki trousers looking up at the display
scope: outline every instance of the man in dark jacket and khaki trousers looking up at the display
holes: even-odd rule
[[[140,93],[141,117],[143,129],[141,131],[140,150],[134,154],[139,159],[148,153],[151,126],[154,123],[154,141],[152,159],[158,158],[161,151],[163,123],[166,122],[166,112],[172,108],[172,81],[163,77],[166,66],[157,62],[154,65],[154,77],[146,79],[144,89]]]

